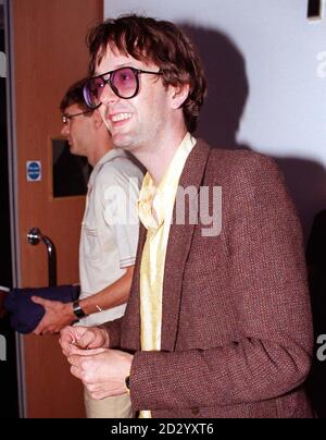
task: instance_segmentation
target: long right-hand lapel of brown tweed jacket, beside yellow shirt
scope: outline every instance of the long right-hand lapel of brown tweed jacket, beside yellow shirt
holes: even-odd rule
[[[183,188],[195,186],[198,194],[210,150],[211,148],[203,140],[198,140],[186,161],[179,186]],[[189,212],[188,197],[186,197],[186,200],[187,219],[187,213]],[[173,224],[171,225],[167,242],[163,284],[161,350],[170,352],[175,350],[184,271],[196,227],[195,224],[189,224],[187,220],[186,224],[176,224],[175,219],[176,205],[174,206]]]

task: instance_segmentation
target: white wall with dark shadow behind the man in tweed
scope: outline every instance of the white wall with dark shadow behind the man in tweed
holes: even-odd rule
[[[312,23],[306,10],[308,0],[104,0],[105,17],[190,26],[210,85],[200,135],[275,157],[308,233],[326,209],[326,11]]]

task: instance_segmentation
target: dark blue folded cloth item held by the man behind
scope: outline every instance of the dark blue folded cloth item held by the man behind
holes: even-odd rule
[[[45,300],[71,303],[78,300],[79,285],[59,285],[57,288],[13,289],[4,301],[4,308],[10,313],[11,327],[18,333],[30,333],[45,316],[45,308],[35,304],[32,296]]]

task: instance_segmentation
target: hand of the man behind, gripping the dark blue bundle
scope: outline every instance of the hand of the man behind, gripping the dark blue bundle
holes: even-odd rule
[[[40,320],[35,334],[59,333],[65,326],[71,325],[75,319],[72,303],[61,303],[60,301],[43,300],[39,296],[32,296],[32,301],[40,304],[46,314]]]

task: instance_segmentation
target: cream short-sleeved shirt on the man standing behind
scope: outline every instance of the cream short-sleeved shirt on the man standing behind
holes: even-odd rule
[[[88,183],[79,244],[80,300],[111,285],[136,259],[137,199],[142,172],[127,152],[110,150],[95,166]],[[80,326],[99,326],[125,313],[126,305],[91,314]]]

